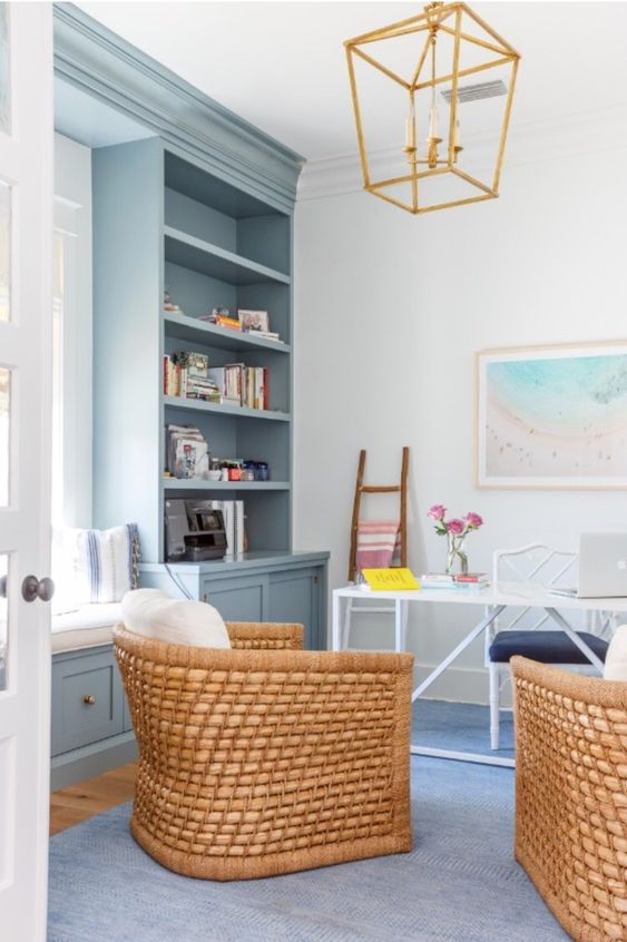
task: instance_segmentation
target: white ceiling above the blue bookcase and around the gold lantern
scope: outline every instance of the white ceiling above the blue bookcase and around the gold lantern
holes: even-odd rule
[[[310,160],[356,149],[343,40],[422,9],[295,0],[79,6]],[[627,2],[472,7],[522,55],[513,129],[627,104]]]

